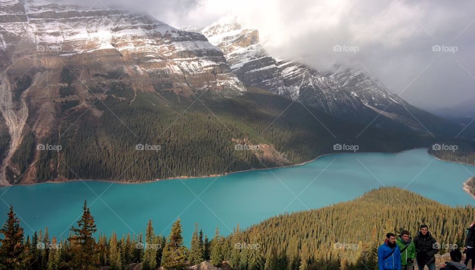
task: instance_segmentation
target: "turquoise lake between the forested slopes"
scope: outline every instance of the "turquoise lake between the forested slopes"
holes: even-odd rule
[[[463,190],[463,182],[473,174],[475,166],[441,161],[427,149],[416,149],[331,154],[286,168],[143,184],[73,181],[12,186],[0,188],[0,222],[6,220],[11,204],[26,234],[47,226],[50,236],[64,239],[71,225],[77,225],[86,199],[98,232],[144,232],[151,219],[156,233],[168,234],[180,216],[188,245],[195,222],[210,238],[216,226],[227,235],[238,223],[246,228],[279,213],[350,200],[380,186],[406,188],[453,206],[474,204]]]

